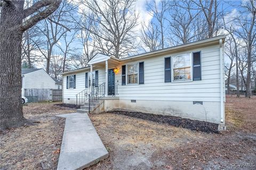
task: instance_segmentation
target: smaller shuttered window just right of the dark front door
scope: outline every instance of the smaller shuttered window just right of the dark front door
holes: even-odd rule
[[[138,84],[138,63],[127,65],[127,84]]]

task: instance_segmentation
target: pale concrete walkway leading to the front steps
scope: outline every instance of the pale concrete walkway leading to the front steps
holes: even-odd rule
[[[59,115],[66,118],[58,170],[83,169],[108,157],[89,116],[81,113]]]

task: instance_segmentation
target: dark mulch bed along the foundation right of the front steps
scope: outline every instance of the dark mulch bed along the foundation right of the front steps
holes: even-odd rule
[[[141,113],[141,112],[125,112],[125,111],[111,111],[108,113],[114,114],[122,114],[126,116],[141,118],[143,120],[153,121],[157,123],[166,123],[176,127],[182,127],[186,129],[190,129],[193,131],[202,131],[206,133],[219,133],[218,124],[190,120],[189,118],[181,118],[176,116],[167,116],[167,115],[155,115],[149,113]]]

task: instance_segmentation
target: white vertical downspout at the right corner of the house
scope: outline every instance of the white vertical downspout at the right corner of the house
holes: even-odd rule
[[[220,122],[224,123],[224,91],[223,91],[223,44],[220,39]]]

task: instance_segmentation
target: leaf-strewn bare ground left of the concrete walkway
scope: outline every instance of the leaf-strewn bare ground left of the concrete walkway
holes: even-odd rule
[[[54,103],[30,103],[23,106],[24,116],[36,121],[0,133],[0,169],[56,169],[65,119],[54,115],[72,113]]]

